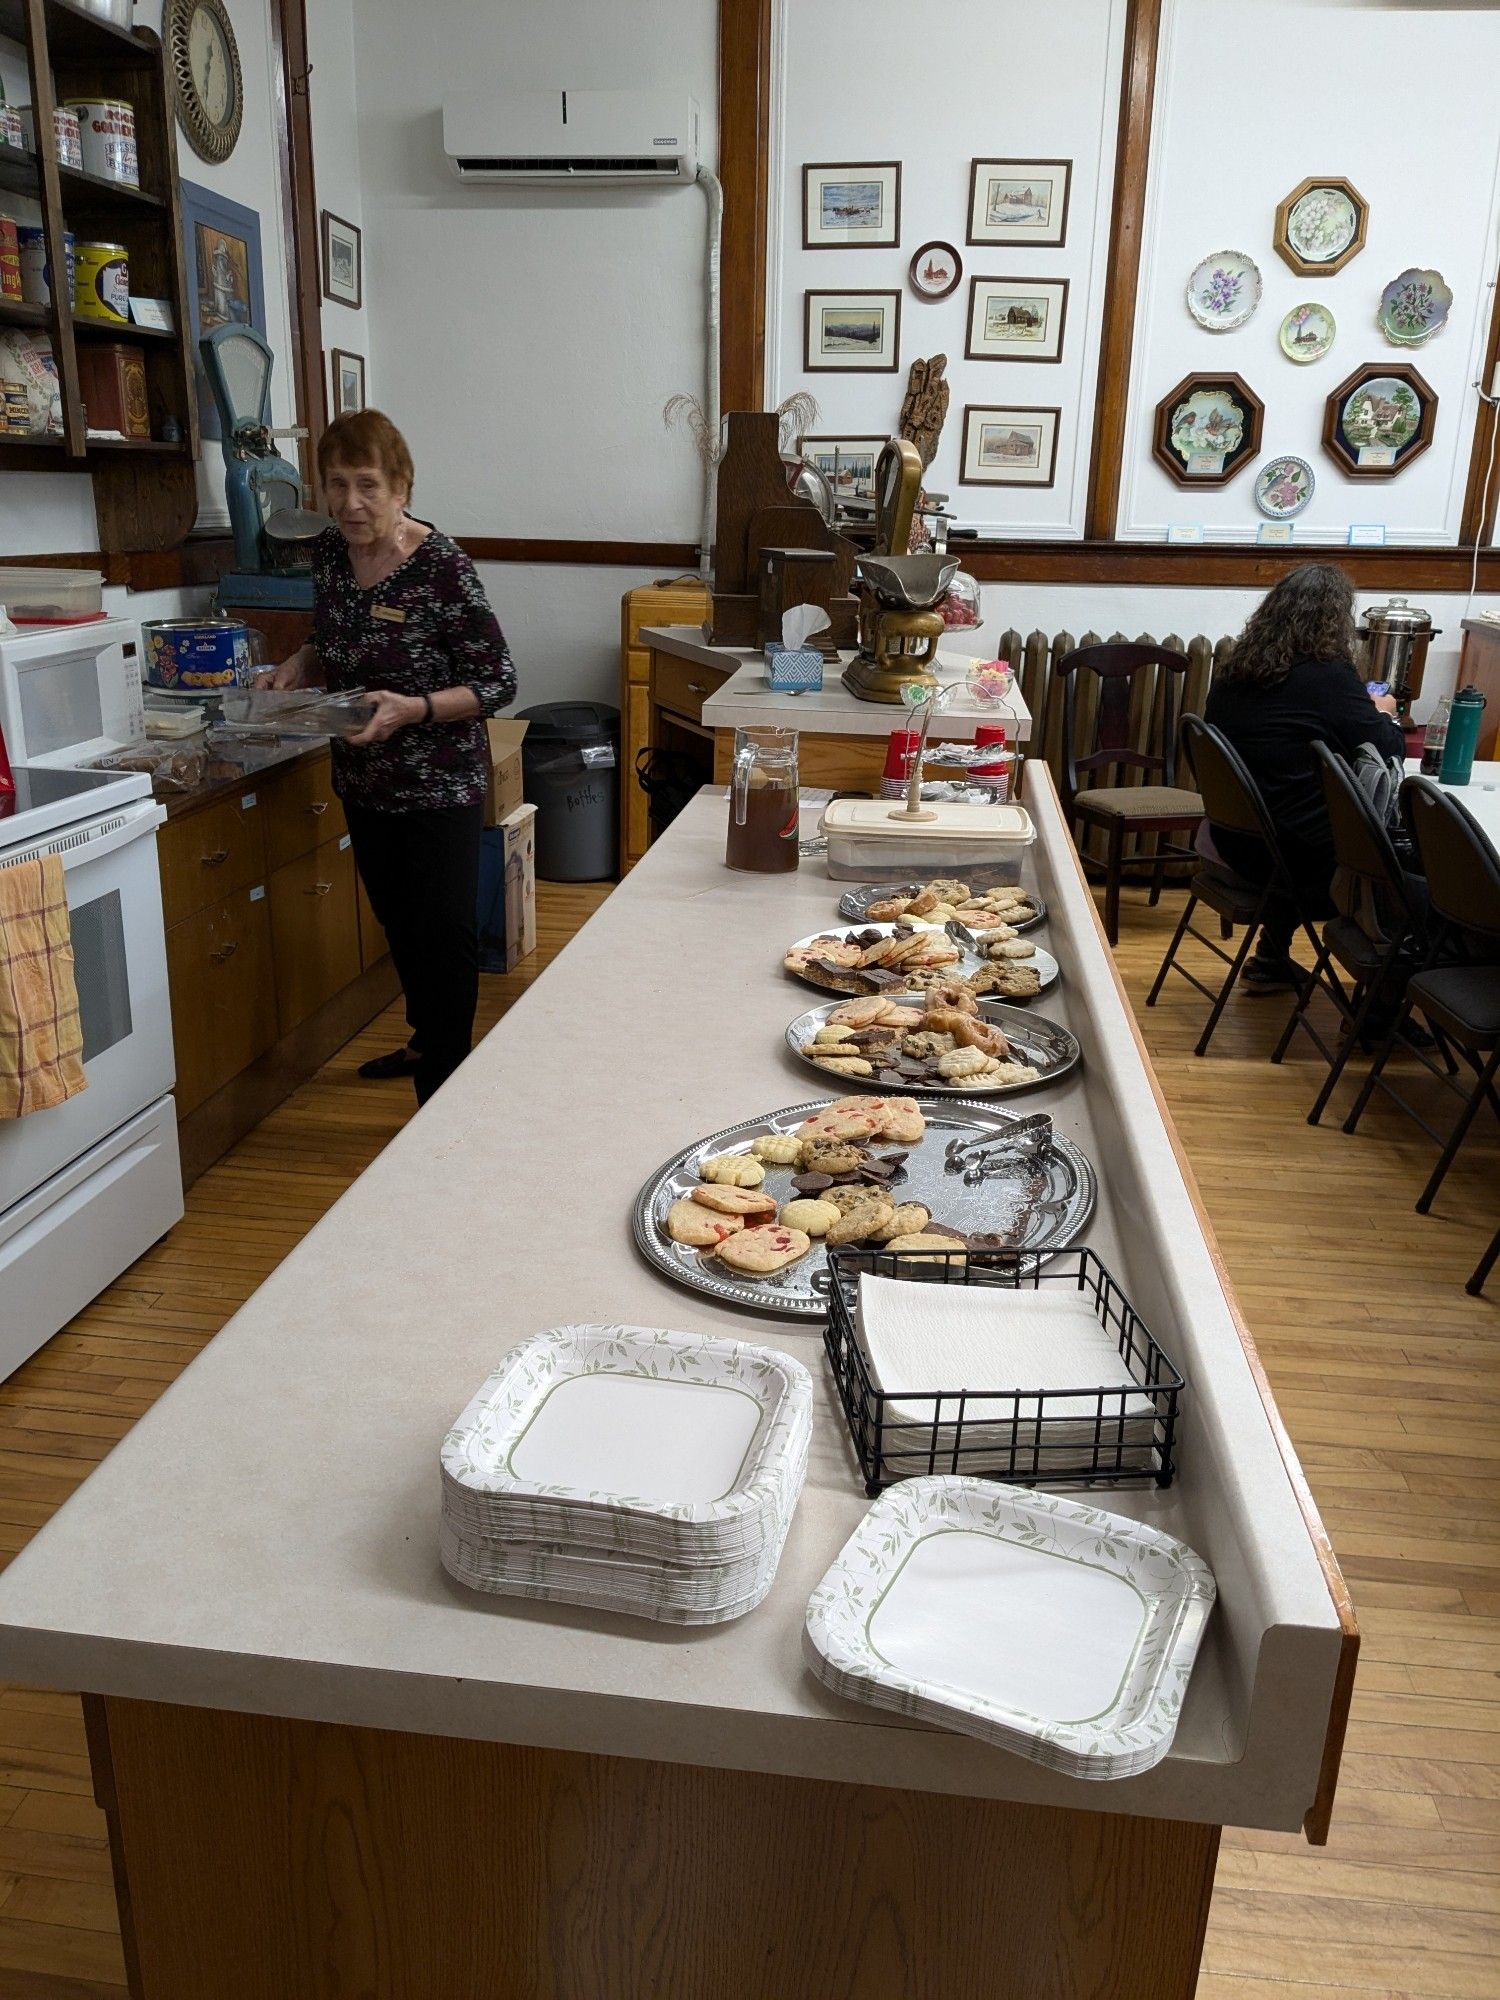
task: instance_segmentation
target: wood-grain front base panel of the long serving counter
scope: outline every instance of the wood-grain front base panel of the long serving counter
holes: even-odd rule
[[[1218,1828],[86,1696],[136,2000],[1188,2000]]]

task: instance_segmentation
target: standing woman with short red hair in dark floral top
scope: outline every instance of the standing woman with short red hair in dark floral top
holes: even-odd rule
[[[354,862],[406,990],[418,1104],[468,1056],[478,1004],[478,876],[490,752],[516,668],[474,564],[408,514],[412,454],[378,410],[318,440],[334,526],[312,548],[312,640],[262,682],[366,688],[374,716],[334,742]]]

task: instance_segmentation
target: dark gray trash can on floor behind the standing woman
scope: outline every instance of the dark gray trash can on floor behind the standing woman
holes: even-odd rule
[[[606,702],[518,708],[526,802],[536,806],[536,874],[608,882],[620,844],[620,710]]]

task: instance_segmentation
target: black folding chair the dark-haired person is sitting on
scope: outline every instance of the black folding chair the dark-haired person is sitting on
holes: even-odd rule
[[[1266,810],[1266,800],[1260,796],[1260,786],[1246,770],[1238,750],[1226,736],[1220,734],[1220,730],[1216,730],[1210,722],[1204,722],[1202,716],[1184,716],[1182,754],[1192,768],[1208,820],[1214,826],[1226,828],[1226,832],[1246,834],[1248,838],[1260,842],[1266,850],[1266,880],[1264,884],[1254,884],[1224,864],[1204,862],[1188,884],[1188,906],[1178,920],[1178,928],[1172,932],[1166,958],[1156,972],[1152,990],[1146,994],[1146,1006],[1156,1006],[1156,996],[1160,994],[1168,972],[1178,972],[1190,986],[1196,986],[1206,1000],[1212,1000],[1214,1004],[1208,1020],[1204,1022],[1204,1032],[1198,1036],[1198,1044],[1194,1048],[1194,1056],[1202,1056],[1208,1050],[1208,1044],[1214,1038],[1214,1028],[1218,1028],[1220,1014],[1234,992],[1240,968],[1250,956],[1250,946],[1256,940],[1266,910],[1270,908],[1272,898],[1280,898],[1292,906],[1298,928],[1306,932],[1308,942],[1312,944],[1316,968],[1312,976],[1324,982],[1340,1010],[1350,1012],[1348,996],[1338,984],[1338,976],[1328,962],[1328,952],[1314,930],[1314,916],[1308,912],[1306,898],[1282,858],[1282,848],[1276,840],[1276,828],[1272,826],[1270,812]],[[1222,950],[1214,938],[1208,938],[1202,930],[1194,928],[1192,914],[1200,902],[1214,910],[1224,926],[1244,924],[1244,940],[1234,956]],[[1194,972],[1190,972],[1184,964],[1178,964],[1178,946],[1188,936],[1196,938],[1198,944],[1206,946],[1214,958],[1222,960],[1230,968],[1224,974],[1224,984],[1218,992],[1212,992],[1212,988],[1204,986]],[[1306,1010],[1298,1010],[1292,1020],[1322,1050],[1324,1060],[1332,1064],[1332,1050],[1306,1018]],[[1274,1056],[1276,1062],[1282,1060],[1288,1040],[1290,1034],[1278,1044]]]

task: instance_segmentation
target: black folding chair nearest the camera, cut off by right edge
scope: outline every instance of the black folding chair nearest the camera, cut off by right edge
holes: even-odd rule
[[[1478,820],[1452,792],[1444,792],[1430,778],[1408,778],[1402,784],[1402,812],[1428,882],[1428,956],[1422,970],[1406,982],[1400,1012],[1364,1078],[1354,1110],[1344,1120],[1344,1130],[1356,1128],[1378,1086],[1442,1146],[1438,1164],[1416,1198],[1416,1212],[1424,1216],[1480,1104],[1488,1102],[1500,1116],[1500,1096],[1494,1090],[1494,1074],[1500,1068],[1500,856]],[[1460,1082],[1422,1058],[1424,1068],[1464,1100],[1446,1140],[1384,1074],[1412,1010],[1420,1010],[1440,1048],[1458,1050],[1474,1074],[1474,1088],[1464,1094]]]

